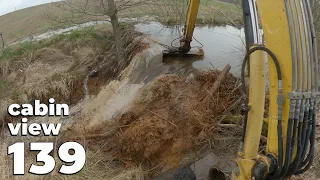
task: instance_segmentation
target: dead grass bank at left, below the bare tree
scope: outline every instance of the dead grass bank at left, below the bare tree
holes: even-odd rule
[[[77,103],[84,97],[83,80],[92,70],[96,70],[95,76],[101,81],[89,88],[90,93],[97,93],[96,88],[117,78],[143,44],[134,41],[139,34],[128,27],[123,33],[126,58],[117,62],[108,27],[87,28],[6,49],[0,56],[0,119],[11,121],[2,110],[8,102],[46,102],[55,97],[60,103]]]

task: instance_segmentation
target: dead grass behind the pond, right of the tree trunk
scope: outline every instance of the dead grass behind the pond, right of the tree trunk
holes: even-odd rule
[[[188,0],[161,0],[150,1],[144,5],[135,7],[134,10],[121,12],[131,16],[153,16],[156,21],[167,25],[183,25],[186,21]],[[129,15],[130,16],[130,15]],[[229,3],[217,2],[215,0],[205,3],[201,1],[197,17],[198,25],[241,25],[241,9]]]

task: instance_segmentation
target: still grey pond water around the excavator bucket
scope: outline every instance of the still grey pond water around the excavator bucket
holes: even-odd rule
[[[168,28],[160,23],[151,22],[138,24],[136,29],[148,34],[152,41],[158,42],[163,48],[164,45],[179,46],[181,27]],[[165,65],[159,64],[158,70],[151,73],[157,74],[156,71],[168,71],[164,70],[165,66],[169,66],[166,68],[174,69],[174,71],[188,72],[192,71],[193,68],[198,70],[221,69],[229,63],[232,66],[231,72],[240,75],[241,61],[245,52],[244,42],[244,31],[232,26],[197,27],[191,45],[194,50],[202,47],[205,53],[203,59],[194,57],[165,58]],[[162,69],[160,66],[162,66]]]

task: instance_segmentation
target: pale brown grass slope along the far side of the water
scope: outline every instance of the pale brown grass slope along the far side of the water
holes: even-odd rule
[[[70,1],[70,0],[69,0]],[[80,0],[77,0],[77,2]],[[183,24],[186,17],[186,0],[162,0],[148,1],[146,4],[135,6],[119,12],[120,17],[142,17],[158,16],[158,20],[165,24]],[[214,1],[215,2],[215,1]],[[212,9],[215,6],[216,8]],[[230,24],[218,10],[222,9],[235,22],[241,19],[241,13],[236,6],[226,3],[222,7],[220,4],[209,4],[199,12],[199,24]],[[227,7],[227,8],[225,8]],[[231,9],[230,9],[230,8]],[[183,14],[184,13],[184,14]],[[49,17],[55,18],[49,18]],[[0,32],[3,33],[6,45],[18,42],[26,37],[32,37],[40,33],[53,29],[66,28],[74,23],[84,23],[88,21],[106,20],[105,16],[86,16],[83,14],[72,14],[57,8],[56,5],[44,4],[22,10],[18,10],[3,16],[0,16]],[[50,20],[51,19],[51,20]],[[57,22],[52,21],[57,20]]]

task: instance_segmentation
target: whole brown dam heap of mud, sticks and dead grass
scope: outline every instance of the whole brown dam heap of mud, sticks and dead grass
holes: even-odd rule
[[[88,118],[85,126],[77,123],[65,137],[84,140],[89,149],[99,149],[109,161],[142,165],[153,169],[151,173],[178,167],[187,154],[221,149],[222,143],[215,141],[239,136],[241,122],[226,118],[238,114],[235,104],[241,99],[239,80],[227,73],[229,69],[188,77],[159,76],[142,87],[129,108],[112,120],[88,125]]]

